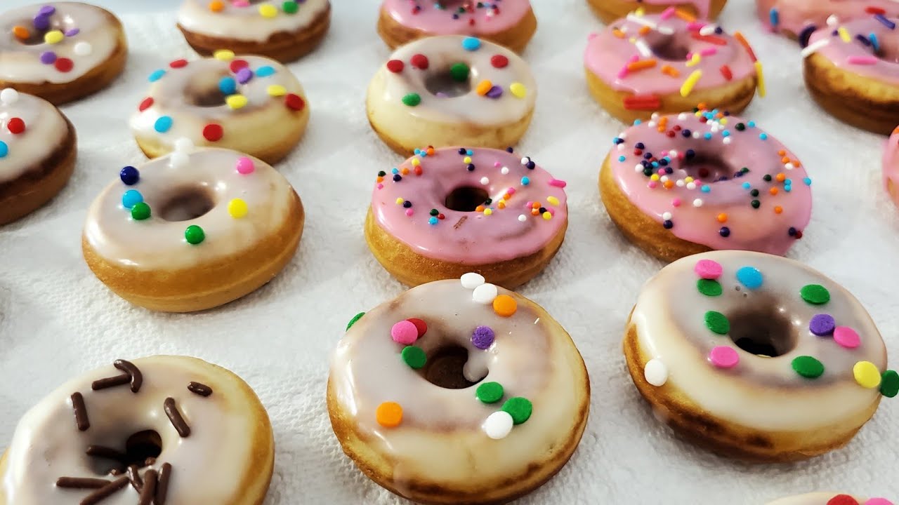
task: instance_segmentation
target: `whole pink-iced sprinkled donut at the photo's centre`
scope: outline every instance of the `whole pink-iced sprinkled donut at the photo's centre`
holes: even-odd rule
[[[546,268],[567,227],[565,182],[530,157],[428,147],[378,172],[365,239],[409,286],[476,271],[515,288]]]

